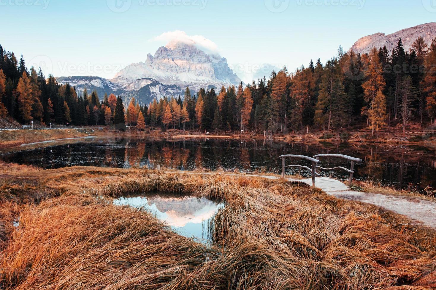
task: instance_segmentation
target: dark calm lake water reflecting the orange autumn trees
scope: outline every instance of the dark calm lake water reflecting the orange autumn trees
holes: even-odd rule
[[[67,143],[68,142],[68,143]],[[86,138],[47,143],[43,149],[1,155],[0,160],[31,164],[43,168],[69,166],[97,167],[170,167],[180,170],[207,168],[252,172],[265,170],[280,173],[282,154],[314,156],[341,153],[363,160],[356,166],[355,178],[374,180],[398,188],[436,187],[436,153],[434,147],[389,146],[364,143],[275,143],[262,140],[149,140],[146,138]],[[306,161],[287,160],[287,165]],[[309,163],[307,162],[309,166]],[[344,160],[323,159],[322,167],[349,167]],[[300,169],[286,170],[287,174],[310,173]],[[323,176],[347,179],[341,171],[321,172]]]

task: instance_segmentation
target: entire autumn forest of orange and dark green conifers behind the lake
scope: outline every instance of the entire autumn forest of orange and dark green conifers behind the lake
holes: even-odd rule
[[[294,73],[273,71],[269,79],[238,87],[200,89],[184,97],[165,97],[139,106],[132,98],[126,110],[120,97],[94,91],[78,96],[69,84],[45,79],[41,69],[27,69],[23,56],[0,46],[0,116],[20,122],[39,120],[73,125],[109,125],[255,132],[291,128],[336,130],[367,126],[378,135],[383,127],[410,118],[436,123],[436,39],[430,46],[419,37],[405,51],[402,40],[389,52],[368,54],[340,47],[325,64],[318,59]],[[117,113],[118,112],[118,113]]]

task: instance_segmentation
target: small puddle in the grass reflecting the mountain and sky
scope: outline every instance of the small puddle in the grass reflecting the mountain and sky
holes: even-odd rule
[[[130,194],[118,198],[115,203],[148,210],[182,236],[204,241],[209,240],[209,220],[224,207],[224,203],[207,198],[162,193],[146,196]]]

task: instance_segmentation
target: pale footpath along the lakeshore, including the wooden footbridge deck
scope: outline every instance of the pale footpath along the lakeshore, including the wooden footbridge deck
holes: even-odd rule
[[[187,174],[203,174],[213,175],[215,172],[195,173],[183,172]],[[237,173],[220,173],[229,176],[248,176],[248,177],[261,177],[272,180],[278,180],[281,177],[269,175],[255,175],[255,174],[237,174]],[[302,182],[312,186],[312,179],[292,179],[286,178],[291,182]],[[436,229],[436,202],[429,200],[422,200],[416,197],[409,196],[394,196],[379,193],[357,192],[350,190],[344,183],[330,177],[319,177],[315,180],[316,187],[323,190],[325,193],[334,197],[344,200],[353,200],[364,203],[370,203],[375,206],[391,210],[394,213],[401,214],[412,220],[416,220],[418,224],[425,225]]]

